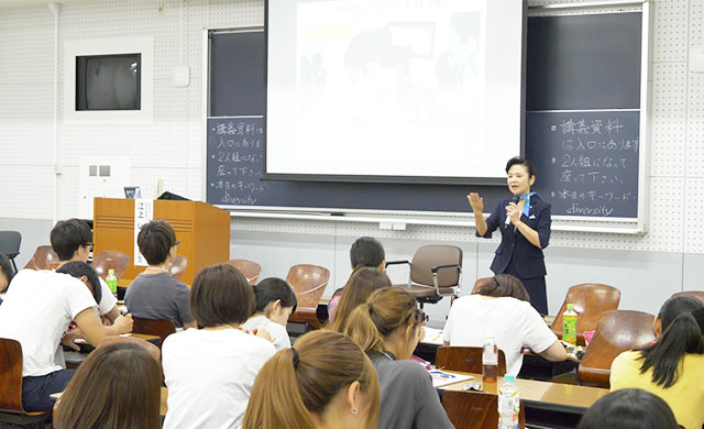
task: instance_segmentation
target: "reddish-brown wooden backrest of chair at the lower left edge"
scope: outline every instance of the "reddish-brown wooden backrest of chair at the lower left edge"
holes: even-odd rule
[[[24,413],[22,408],[22,346],[0,338],[0,410]]]

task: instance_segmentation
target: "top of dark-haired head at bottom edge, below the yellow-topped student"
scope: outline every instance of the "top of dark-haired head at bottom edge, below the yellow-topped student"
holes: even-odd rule
[[[612,392],[586,410],[578,429],[679,429],[668,404],[638,388]]]

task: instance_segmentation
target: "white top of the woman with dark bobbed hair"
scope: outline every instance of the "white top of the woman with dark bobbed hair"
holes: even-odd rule
[[[190,328],[168,336],[162,346],[164,428],[240,427],[254,378],[274,353],[271,342],[238,329]]]

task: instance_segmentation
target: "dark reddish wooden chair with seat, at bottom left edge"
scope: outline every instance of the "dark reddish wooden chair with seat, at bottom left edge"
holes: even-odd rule
[[[22,345],[6,338],[0,338],[0,424],[42,428],[51,420],[48,411],[28,413],[22,407]]]

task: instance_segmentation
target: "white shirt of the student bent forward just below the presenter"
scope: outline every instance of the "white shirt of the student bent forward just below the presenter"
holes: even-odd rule
[[[443,340],[450,345],[481,348],[487,333],[494,334],[506,355],[506,374],[518,375],[524,346],[542,353],[558,338],[529,302],[516,298],[484,298],[466,295],[452,304],[444,323]]]

